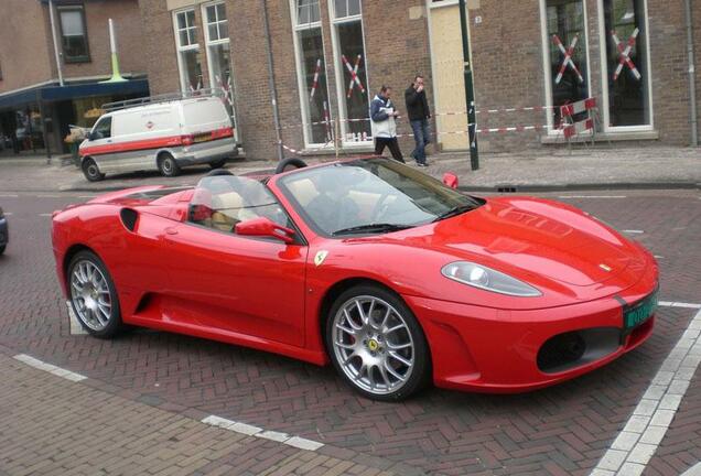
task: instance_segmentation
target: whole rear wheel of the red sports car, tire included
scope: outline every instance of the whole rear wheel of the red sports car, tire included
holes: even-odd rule
[[[109,338],[122,328],[117,289],[97,255],[80,251],[73,257],[67,280],[73,312],[90,335]]]

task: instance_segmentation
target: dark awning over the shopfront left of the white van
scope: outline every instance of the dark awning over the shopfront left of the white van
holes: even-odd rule
[[[148,79],[130,79],[123,83],[77,83],[65,86],[47,85],[0,96],[0,109],[26,102],[58,101],[110,95],[149,96]]]

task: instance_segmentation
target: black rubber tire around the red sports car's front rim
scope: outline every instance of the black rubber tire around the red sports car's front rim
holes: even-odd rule
[[[338,314],[339,316],[343,315],[343,307],[345,305],[348,305],[348,303],[353,302],[353,300],[357,298],[360,298],[360,299],[373,298],[389,304],[391,307],[393,307],[395,311],[397,311],[398,314],[401,315],[401,318],[403,320],[406,324],[406,327],[405,327],[406,331],[401,329],[401,332],[407,332],[407,334],[410,334],[411,336],[411,340],[413,345],[412,347],[413,369],[407,377],[406,381],[401,383],[400,387],[398,387],[396,390],[390,391],[388,386],[388,389],[382,393],[368,391],[367,389],[356,383],[348,375],[346,375],[346,370],[344,370],[344,368],[342,367],[342,364],[338,360],[339,357],[336,355],[336,351],[334,348],[334,340],[333,340],[334,339],[334,329],[333,329],[334,320],[336,314]],[[353,286],[346,290],[345,292],[343,292],[334,301],[328,314],[324,317],[325,317],[324,340],[326,344],[326,351],[328,353],[328,357],[331,358],[331,361],[333,363],[336,371],[342,377],[342,379],[358,393],[371,400],[395,402],[395,401],[406,400],[407,398],[414,394],[416,392],[418,392],[419,390],[421,390],[429,383],[429,380],[431,377],[431,355],[429,350],[429,345],[423,334],[423,329],[421,328],[418,320],[416,318],[416,316],[413,315],[409,306],[393,292],[376,284],[360,284],[360,285]],[[370,320],[373,320],[371,316],[370,316]],[[389,338],[386,337],[386,340],[387,342],[385,342],[382,345],[386,345],[387,348],[382,349],[382,347],[380,347],[377,353],[378,356],[380,355],[379,353],[384,353],[384,351],[389,353],[389,346],[388,346]],[[381,342],[382,340],[380,340],[380,343]],[[385,358],[384,360],[388,361],[387,358]],[[375,368],[370,367],[369,372],[374,372],[374,371],[376,371]],[[382,372],[385,374],[385,371]],[[368,374],[368,377],[369,377],[369,374]],[[396,383],[399,385],[399,381],[397,381]]]

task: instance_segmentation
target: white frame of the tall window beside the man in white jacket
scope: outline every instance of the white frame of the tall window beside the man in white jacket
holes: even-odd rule
[[[367,148],[368,145],[373,145],[374,138],[371,134],[368,136],[368,140],[360,141],[347,141],[346,134],[348,132],[348,111],[346,110],[346,85],[345,83],[345,66],[343,61],[341,60],[341,40],[338,39],[338,25],[344,23],[352,23],[355,21],[360,22],[360,28],[363,29],[363,52],[365,53],[363,61],[365,62],[365,72],[367,77],[367,84],[365,85],[365,90],[367,93],[367,110],[368,110],[368,125],[369,125],[369,110],[370,110],[370,91],[373,90],[370,87],[370,76],[367,72],[370,71],[370,65],[367,58],[367,42],[365,40],[365,22],[363,20],[363,0],[358,0],[360,7],[360,13],[355,15],[347,15],[342,18],[336,18],[336,6],[333,0],[328,1],[328,21],[331,23],[331,43],[334,53],[334,73],[336,76],[336,99],[338,105],[338,119],[341,120],[341,147],[344,149],[357,149],[357,148]]]

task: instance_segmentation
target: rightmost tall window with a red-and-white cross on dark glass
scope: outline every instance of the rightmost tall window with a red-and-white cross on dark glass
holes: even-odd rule
[[[610,127],[651,126],[645,0],[603,0]]]

